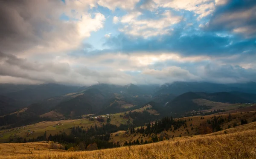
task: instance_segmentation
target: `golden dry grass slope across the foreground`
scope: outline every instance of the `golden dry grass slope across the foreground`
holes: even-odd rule
[[[51,150],[49,152],[49,149],[42,148],[42,150],[33,150],[32,154],[12,153],[6,156],[8,145],[0,144],[0,154],[3,159],[255,159],[254,127],[256,122],[232,128],[227,134],[223,130],[217,134],[186,136],[147,145],[94,151]],[[26,143],[24,146],[29,144],[33,143]],[[42,147],[47,147],[45,143],[43,144]],[[10,145],[13,147],[19,145],[21,148],[16,147],[18,152],[21,152],[19,149],[24,149],[22,144]]]

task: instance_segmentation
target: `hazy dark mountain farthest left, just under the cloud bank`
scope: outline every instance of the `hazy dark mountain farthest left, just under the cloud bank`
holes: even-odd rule
[[[61,84],[40,84],[26,87],[23,90],[6,93],[5,96],[29,105],[50,97],[76,92],[77,89],[78,87],[76,86],[66,86]]]

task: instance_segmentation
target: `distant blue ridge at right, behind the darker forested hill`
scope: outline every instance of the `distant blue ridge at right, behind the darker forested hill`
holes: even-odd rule
[[[215,84],[209,82],[173,82],[172,84],[163,84],[153,93],[153,96],[161,94],[180,95],[186,92],[231,92],[239,91],[244,93],[256,92],[256,83],[248,82],[243,84]]]

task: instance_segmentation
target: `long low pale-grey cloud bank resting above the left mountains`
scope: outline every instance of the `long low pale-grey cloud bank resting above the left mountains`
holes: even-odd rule
[[[56,60],[31,62],[15,55],[0,53],[0,83],[22,79],[23,83],[61,83],[91,85],[98,82],[112,84],[135,83],[130,75],[118,70],[96,71],[86,66],[71,67]],[[11,79],[12,81],[8,81]]]

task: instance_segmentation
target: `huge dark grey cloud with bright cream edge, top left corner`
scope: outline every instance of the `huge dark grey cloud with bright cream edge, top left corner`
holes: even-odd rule
[[[2,3],[0,21],[5,25],[0,26],[3,39],[0,51],[32,54],[70,50],[78,47],[90,32],[103,27],[103,14],[96,13],[92,17],[81,10],[80,7],[89,7],[90,1],[65,2],[14,0]],[[77,7],[74,12],[73,7]],[[70,16],[70,20],[61,20],[63,14]]]

